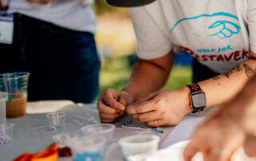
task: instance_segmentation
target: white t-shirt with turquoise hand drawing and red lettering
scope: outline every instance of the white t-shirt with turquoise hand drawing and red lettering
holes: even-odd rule
[[[256,53],[256,0],[158,0],[130,14],[144,59],[177,46],[223,73]]]

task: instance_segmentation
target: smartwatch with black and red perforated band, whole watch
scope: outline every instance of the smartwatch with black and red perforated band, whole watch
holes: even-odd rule
[[[198,84],[186,85],[190,88],[190,108],[193,112],[202,112],[206,108],[206,95]]]

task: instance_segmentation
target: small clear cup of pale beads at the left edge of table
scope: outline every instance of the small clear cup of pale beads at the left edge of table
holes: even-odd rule
[[[12,123],[0,124],[0,144],[10,143],[13,138],[13,128]]]

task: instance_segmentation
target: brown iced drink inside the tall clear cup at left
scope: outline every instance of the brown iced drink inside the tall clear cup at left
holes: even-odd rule
[[[11,102],[6,101],[6,116],[19,117],[26,115],[27,97],[24,93],[15,93]]]

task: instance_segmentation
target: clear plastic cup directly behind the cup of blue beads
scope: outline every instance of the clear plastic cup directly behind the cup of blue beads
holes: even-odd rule
[[[114,133],[114,124],[90,124],[82,127],[81,130],[84,135],[102,136],[108,141],[111,141]]]

